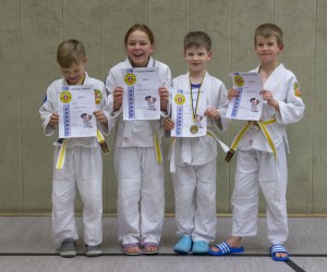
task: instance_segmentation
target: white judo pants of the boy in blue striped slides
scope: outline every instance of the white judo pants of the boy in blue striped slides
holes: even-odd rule
[[[289,234],[287,214],[287,158],[284,144],[272,153],[258,150],[238,151],[238,166],[232,195],[232,236],[257,234],[258,188],[267,203],[268,238],[272,245],[283,244]]]

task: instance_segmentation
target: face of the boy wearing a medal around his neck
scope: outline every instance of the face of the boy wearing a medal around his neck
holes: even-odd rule
[[[207,51],[205,47],[191,47],[184,52],[184,59],[187,63],[190,72],[206,71],[207,62],[211,59],[211,51]]]

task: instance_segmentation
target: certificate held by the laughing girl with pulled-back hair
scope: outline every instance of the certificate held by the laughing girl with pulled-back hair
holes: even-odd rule
[[[159,70],[140,67],[122,70],[123,120],[159,120]]]

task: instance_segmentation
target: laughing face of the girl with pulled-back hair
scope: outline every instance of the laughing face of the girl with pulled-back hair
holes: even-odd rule
[[[141,30],[130,34],[126,44],[126,52],[134,67],[146,67],[149,55],[154,52],[155,45],[152,45],[148,36]]]

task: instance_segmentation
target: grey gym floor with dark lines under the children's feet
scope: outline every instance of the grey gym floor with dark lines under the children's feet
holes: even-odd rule
[[[217,240],[228,237],[230,218],[218,218]],[[131,271],[131,272],[192,272],[192,271],[327,271],[327,219],[290,218],[290,236],[286,247],[291,254],[287,262],[272,261],[268,256],[266,219],[258,220],[257,236],[243,239],[245,252],[241,256],[178,256],[173,254],[175,225],[166,218],[158,256],[129,257],[121,254],[117,240],[117,219],[104,218],[104,256],[84,256],[82,221],[76,219],[81,238],[78,255],[72,259],[58,256],[51,242],[49,217],[0,217],[0,271],[1,272],[74,272],[74,271]]]

